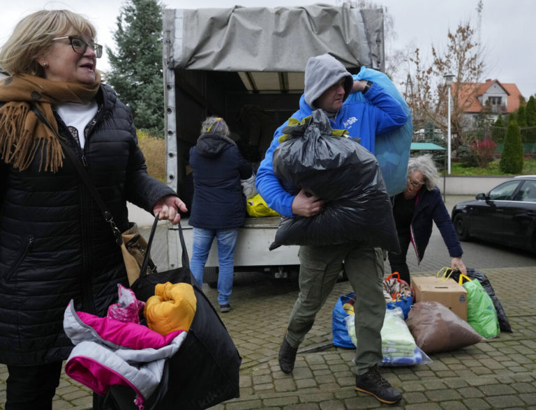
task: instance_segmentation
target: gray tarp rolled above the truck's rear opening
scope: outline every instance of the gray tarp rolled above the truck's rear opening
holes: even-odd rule
[[[174,47],[168,68],[303,72],[329,53],[345,66],[383,71],[382,11],[315,4],[303,7],[167,9]],[[169,36],[169,37],[168,37]],[[240,45],[237,47],[237,45]]]

